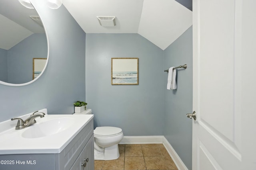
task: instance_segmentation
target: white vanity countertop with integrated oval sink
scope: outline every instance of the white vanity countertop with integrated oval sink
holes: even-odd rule
[[[60,153],[93,119],[93,115],[48,115],[47,109],[39,112],[44,117],[24,129],[15,129],[17,121],[0,122],[0,154]],[[25,120],[31,114],[19,117]]]

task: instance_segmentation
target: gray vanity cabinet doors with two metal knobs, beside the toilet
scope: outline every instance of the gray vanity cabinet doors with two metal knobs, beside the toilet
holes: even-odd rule
[[[94,135],[91,136],[70,170],[94,170]]]

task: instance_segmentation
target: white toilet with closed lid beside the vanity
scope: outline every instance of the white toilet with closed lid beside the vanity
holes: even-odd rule
[[[74,114],[92,114],[92,109]],[[119,158],[118,143],[123,137],[124,134],[121,128],[96,127],[94,129],[94,160],[114,160]]]

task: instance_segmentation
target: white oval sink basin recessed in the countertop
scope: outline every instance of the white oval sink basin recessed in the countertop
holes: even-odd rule
[[[31,127],[28,127],[23,133],[24,138],[40,138],[56,133],[60,133],[70,126],[74,125],[75,119],[72,117],[61,117],[44,121],[42,123],[36,123]]]

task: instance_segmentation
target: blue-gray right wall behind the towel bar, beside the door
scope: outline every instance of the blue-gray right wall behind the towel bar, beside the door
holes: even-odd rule
[[[164,50],[164,68],[187,64],[177,69],[176,90],[164,90],[164,136],[189,170],[192,169],[192,26]],[[164,82],[167,84],[165,74]]]

